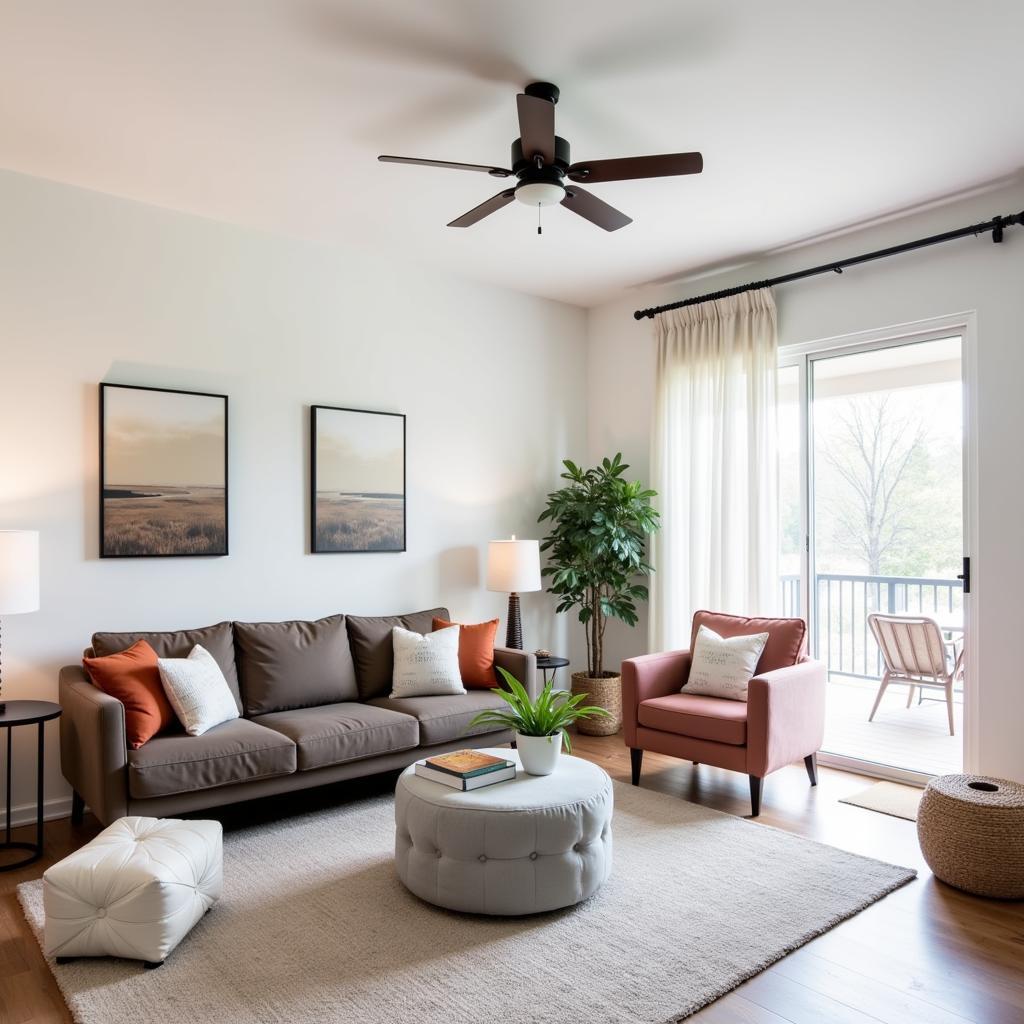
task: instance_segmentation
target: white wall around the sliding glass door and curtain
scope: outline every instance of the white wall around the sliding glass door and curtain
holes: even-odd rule
[[[589,311],[588,434],[591,459],[622,451],[647,477],[654,386],[651,321],[633,310],[825,263],[1024,209],[1017,186],[803,247],[727,274],[637,291]],[[685,240],[680,242],[681,250]],[[975,310],[978,410],[977,550],[971,552],[978,629],[977,767],[1024,779],[1024,228],[964,239],[776,289],[781,344]],[[646,621],[609,626],[615,660],[646,649]]]

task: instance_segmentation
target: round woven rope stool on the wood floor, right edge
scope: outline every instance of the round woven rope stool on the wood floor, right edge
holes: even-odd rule
[[[937,879],[997,899],[1024,899],[1024,785],[986,775],[933,778],[918,840]]]

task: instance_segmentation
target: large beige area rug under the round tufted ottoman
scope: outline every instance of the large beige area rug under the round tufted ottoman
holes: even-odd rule
[[[51,970],[80,1024],[678,1021],[914,871],[615,785],[611,879],[525,919],[420,902],[392,863],[393,802],[228,833],[224,895],[156,971]],[[42,882],[18,887],[40,934]]]

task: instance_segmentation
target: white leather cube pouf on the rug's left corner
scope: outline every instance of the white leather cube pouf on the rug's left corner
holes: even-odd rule
[[[222,878],[219,821],[121,818],[44,872],[46,953],[157,967],[220,897]]]

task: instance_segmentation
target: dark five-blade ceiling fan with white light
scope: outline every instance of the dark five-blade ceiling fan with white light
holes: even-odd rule
[[[555,134],[555,103],[558,86],[534,82],[516,96],[519,111],[519,138],[512,143],[512,170],[486,164],[461,164],[451,160],[420,160],[416,157],[378,157],[388,164],[421,164],[450,167],[460,171],[483,171],[495,178],[516,177],[519,183],[492,196],[449,227],[469,227],[517,199],[526,206],[554,206],[567,210],[606,231],[616,231],[633,222],[632,217],[609,206],[579,182],[626,181],[631,178],[660,178],[676,174],[699,174],[703,158],[699,153],[672,153],[657,157],[626,157],[618,160],[591,160],[570,163],[569,144]],[[567,180],[566,180],[567,179]],[[540,226],[537,228],[541,232]]]

